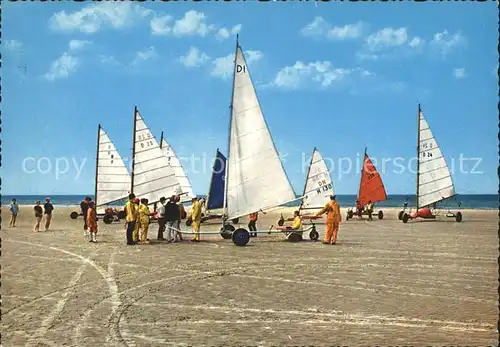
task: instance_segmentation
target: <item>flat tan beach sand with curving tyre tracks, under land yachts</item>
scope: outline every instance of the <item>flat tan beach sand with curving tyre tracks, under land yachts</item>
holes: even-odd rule
[[[384,220],[342,223],[335,246],[273,235],[236,247],[219,236],[126,246],[122,223],[101,223],[92,244],[71,210],[40,233],[32,207],[16,228],[4,213],[4,346],[498,342],[496,211],[403,224],[384,209]]]

